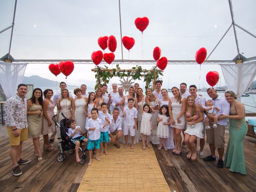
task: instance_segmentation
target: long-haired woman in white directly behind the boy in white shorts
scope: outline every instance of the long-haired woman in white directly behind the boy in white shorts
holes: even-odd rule
[[[120,105],[120,108],[121,108],[121,110],[122,110],[122,113],[124,112],[124,108],[128,107],[128,99],[129,99],[129,98],[133,98],[134,101],[135,101],[135,89],[134,89],[133,86],[130,86],[130,88],[129,88],[129,94],[126,95],[126,96],[124,96],[124,97],[122,98],[122,102],[124,103],[124,106]],[[122,121],[122,129],[123,129],[123,127],[124,127],[124,118],[123,118],[123,121]],[[123,144],[125,144],[124,135],[122,135],[121,142],[122,142]],[[135,138],[134,138],[134,144],[136,144],[136,143],[138,143],[138,142],[139,142],[138,137],[135,137]],[[130,136],[130,135],[128,136],[128,143],[129,143],[129,144],[132,143],[132,139],[131,139],[131,136]]]

